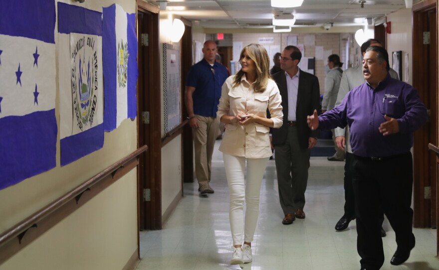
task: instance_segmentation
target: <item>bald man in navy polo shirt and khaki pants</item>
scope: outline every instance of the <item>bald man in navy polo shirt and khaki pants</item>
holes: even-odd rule
[[[214,193],[210,186],[212,154],[218,136],[216,119],[221,86],[227,78],[225,67],[215,61],[217,44],[208,40],[204,58],[193,65],[186,80],[186,109],[195,148],[195,174],[201,194]]]

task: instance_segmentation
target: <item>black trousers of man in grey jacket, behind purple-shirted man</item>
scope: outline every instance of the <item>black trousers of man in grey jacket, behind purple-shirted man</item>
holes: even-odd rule
[[[344,188],[345,188],[345,214],[343,217],[347,219],[352,219],[355,217],[355,196],[354,188],[352,187],[352,161],[354,160],[354,154],[346,152],[345,159],[345,177],[344,177]],[[380,224],[383,225],[384,213],[380,208],[381,218]]]

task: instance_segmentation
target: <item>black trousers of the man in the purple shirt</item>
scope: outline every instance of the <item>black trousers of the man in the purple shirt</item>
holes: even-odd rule
[[[368,270],[378,270],[384,263],[380,208],[395,231],[399,249],[410,250],[415,238],[412,233],[413,210],[410,207],[412,154],[408,152],[384,160],[354,155],[352,173],[360,263]]]

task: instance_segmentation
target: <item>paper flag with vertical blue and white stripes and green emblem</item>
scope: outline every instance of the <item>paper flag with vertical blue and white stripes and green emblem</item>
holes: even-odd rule
[[[136,14],[118,4],[103,8],[104,130],[112,131],[137,115]]]

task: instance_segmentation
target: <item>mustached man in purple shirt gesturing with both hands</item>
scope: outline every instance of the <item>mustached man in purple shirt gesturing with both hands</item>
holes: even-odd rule
[[[361,269],[367,270],[380,269],[384,263],[380,207],[398,245],[390,263],[404,263],[415,247],[410,148],[413,133],[427,122],[427,109],[417,90],[391,78],[389,69],[387,51],[369,47],[363,58],[366,83],[348,92],[338,107],[321,116],[314,112],[307,119],[311,130],[350,128],[357,251]]]

